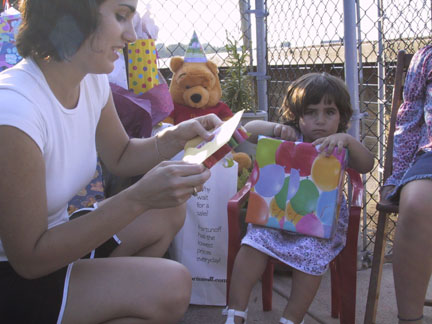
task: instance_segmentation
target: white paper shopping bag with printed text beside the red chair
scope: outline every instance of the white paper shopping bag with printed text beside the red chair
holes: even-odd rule
[[[236,162],[227,162],[217,162],[203,191],[187,201],[185,224],[170,249],[170,256],[191,273],[195,305],[226,305],[227,204],[237,192],[238,171]]]

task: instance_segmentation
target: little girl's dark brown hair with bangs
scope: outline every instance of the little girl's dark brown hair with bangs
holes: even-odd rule
[[[339,110],[338,132],[346,132],[353,114],[350,95],[344,81],[328,73],[308,73],[293,81],[282,103],[284,121],[299,128],[299,119],[308,105],[316,105],[324,98],[326,104],[334,103]]]

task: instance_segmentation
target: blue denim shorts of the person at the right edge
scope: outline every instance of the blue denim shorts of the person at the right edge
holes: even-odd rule
[[[402,177],[399,185],[389,194],[388,199],[399,202],[402,187],[408,182],[422,179],[432,180],[432,152],[425,152],[417,156],[414,163]]]

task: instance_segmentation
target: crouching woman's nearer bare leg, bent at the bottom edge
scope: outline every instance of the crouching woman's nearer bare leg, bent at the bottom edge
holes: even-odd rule
[[[167,259],[80,260],[72,268],[62,323],[176,323],[191,285],[188,270]]]

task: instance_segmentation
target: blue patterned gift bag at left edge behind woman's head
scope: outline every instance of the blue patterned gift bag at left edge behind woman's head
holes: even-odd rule
[[[0,14],[0,71],[14,66],[22,57],[15,47],[15,36],[21,23],[19,11],[8,5]]]

